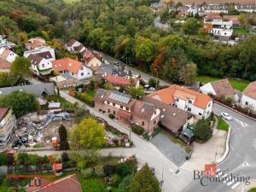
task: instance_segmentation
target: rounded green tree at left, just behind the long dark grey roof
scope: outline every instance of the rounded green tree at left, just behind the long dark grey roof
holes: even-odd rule
[[[19,79],[19,81],[24,82],[25,79],[31,77],[31,62],[25,57],[17,57],[13,62],[10,72],[12,76]]]

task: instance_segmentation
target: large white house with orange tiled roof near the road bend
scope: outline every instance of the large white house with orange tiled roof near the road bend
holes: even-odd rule
[[[212,98],[195,90],[173,84],[163,90],[156,90],[148,96],[187,111],[196,118],[207,119],[212,113]]]

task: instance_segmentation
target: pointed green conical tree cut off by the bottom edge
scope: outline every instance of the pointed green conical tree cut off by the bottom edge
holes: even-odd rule
[[[153,172],[145,164],[131,180],[129,192],[160,192],[160,184]]]

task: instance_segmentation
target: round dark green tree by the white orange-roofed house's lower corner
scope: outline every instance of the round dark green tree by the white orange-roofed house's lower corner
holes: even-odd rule
[[[195,137],[203,142],[207,142],[212,137],[212,129],[208,120],[199,119],[195,124]]]

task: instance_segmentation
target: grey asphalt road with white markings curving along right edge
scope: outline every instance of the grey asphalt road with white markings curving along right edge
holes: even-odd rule
[[[233,117],[233,120],[230,122],[230,154],[218,165],[219,170],[227,172],[227,176],[224,174],[222,177],[230,177],[230,173],[232,173],[233,176],[238,175],[239,177],[256,179],[256,121],[234,113],[218,104],[214,104],[213,111],[218,114],[224,111],[230,113]],[[228,181],[207,184],[204,187],[198,180],[195,180],[183,191],[231,191],[236,189],[240,182]]]

